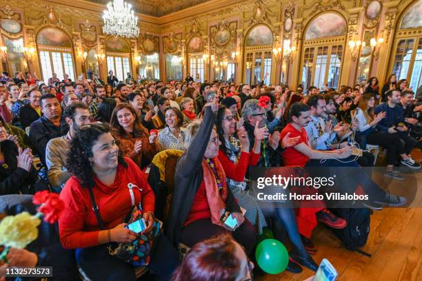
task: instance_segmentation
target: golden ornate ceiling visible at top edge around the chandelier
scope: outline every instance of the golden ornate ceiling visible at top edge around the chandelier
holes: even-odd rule
[[[88,0],[94,3],[100,3],[104,6],[110,0]],[[135,12],[141,14],[149,14],[154,17],[161,17],[165,14],[177,12],[185,8],[189,8],[200,3],[205,3],[210,0],[125,0],[132,4]]]

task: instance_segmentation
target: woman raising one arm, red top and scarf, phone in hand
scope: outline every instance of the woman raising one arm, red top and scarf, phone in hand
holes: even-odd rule
[[[249,254],[254,248],[256,232],[243,217],[217,158],[221,144],[214,129],[218,105],[207,103],[204,108],[202,123],[194,122],[187,128],[185,146],[188,151],[179,158],[176,167],[167,236],[175,245],[182,242],[193,247],[212,236],[232,233]],[[234,220],[231,230],[222,221],[226,218],[222,215]]]

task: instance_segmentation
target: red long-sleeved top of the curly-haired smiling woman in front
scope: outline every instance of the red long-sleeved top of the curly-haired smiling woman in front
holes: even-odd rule
[[[135,204],[142,202],[143,211],[154,211],[154,192],[148,185],[145,174],[130,158],[125,157],[125,161],[128,167],[117,167],[112,185],[104,185],[97,177],[94,178],[94,198],[106,229],[112,229],[123,222],[132,209],[128,183],[142,189],[132,189]],[[60,241],[63,247],[75,249],[98,245],[99,225],[92,210],[88,188],[81,187],[79,180],[72,176],[63,187],[60,198],[66,207],[59,218]]]

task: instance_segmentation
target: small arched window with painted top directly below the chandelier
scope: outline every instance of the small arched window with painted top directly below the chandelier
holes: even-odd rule
[[[107,72],[114,72],[119,81],[125,81],[130,72],[130,47],[120,37],[110,37],[106,41]]]

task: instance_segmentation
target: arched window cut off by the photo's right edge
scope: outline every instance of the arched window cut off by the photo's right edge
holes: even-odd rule
[[[414,92],[422,85],[422,0],[410,6],[399,21],[392,73],[408,79]]]

